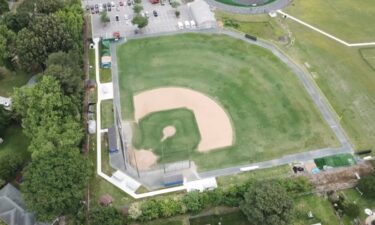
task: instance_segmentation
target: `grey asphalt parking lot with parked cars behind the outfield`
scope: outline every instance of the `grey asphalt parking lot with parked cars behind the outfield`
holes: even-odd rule
[[[108,1],[108,0],[85,0],[83,1],[85,8],[86,5],[93,6],[98,5],[98,9],[94,8],[94,13],[91,13],[91,9],[86,10],[87,13],[91,13],[92,16],[92,26],[93,26],[93,37],[111,38],[114,32],[120,32],[121,36],[127,38],[138,35],[135,33],[138,30],[137,26],[133,25],[131,20],[134,17],[133,4],[129,6],[126,1],[120,4],[119,0]],[[114,5],[104,8],[103,4]],[[180,11],[179,18],[176,17],[176,9],[172,8],[168,0],[165,1],[164,5],[151,4],[149,0],[142,0],[143,13],[148,14],[148,25],[140,30],[142,34],[154,34],[154,33],[164,33],[171,32],[181,29],[178,26],[178,22],[184,24],[185,21],[192,21],[192,15],[187,5],[180,5],[177,10]],[[102,6],[102,7],[100,7]],[[100,13],[95,13],[95,11],[107,10],[110,22],[103,24],[100,20]],[[108,8],[111,8],[110,11]],[[157,12],[157,16],[153,15],[153,11]],[[118,21],[116,21],[116,16]],[[188,29],[184,26],[184,29]],[[192,29],[192,28],[189,28]]]

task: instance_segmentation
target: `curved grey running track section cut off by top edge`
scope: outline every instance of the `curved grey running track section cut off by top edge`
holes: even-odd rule
[[[266,5],[256,7],[232,6],[216,0],[205,0],[212,8],[237,14],[262,14],[282,9],[289,5],[292,0],[276,0]]]

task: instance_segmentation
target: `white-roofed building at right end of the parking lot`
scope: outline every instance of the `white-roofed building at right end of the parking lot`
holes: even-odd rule
[[[194,20],[197,22],[198,28],[209,29],[217,26],[215,14],[204,0],[195,0],[189,3],[188,6]]]

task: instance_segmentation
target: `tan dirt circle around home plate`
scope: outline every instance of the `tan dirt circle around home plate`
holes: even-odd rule
[[[132,151],[134,155],[133,157],[131,157],[131,163],[132,165],[137,165],[139,170],[149,170],[154,165],[156,165],[156,162],[158,161],[158,157],[151,151],[151,149],[141,149]]]

